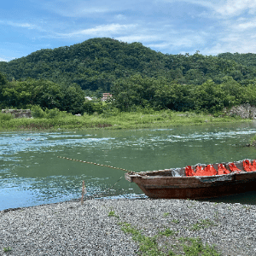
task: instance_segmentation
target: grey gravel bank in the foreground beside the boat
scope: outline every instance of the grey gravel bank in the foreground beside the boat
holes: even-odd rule
[[[119,218],[108,217],[110,211]],[[145,236],[169,228],[177,237],[201,237],[221,255],[256,255],[256,206],[150,199],[88,200],[83,206],[66,201],[1,211],[0,255],[137,255],[137,243],[119,222]],[[172,236],[165,241],[174,242]],[[3,252],[3,247],[12,250]]]

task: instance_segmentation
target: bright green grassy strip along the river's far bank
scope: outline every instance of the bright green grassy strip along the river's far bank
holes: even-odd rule
[[[170,110],[153,113],[108,113],[62,115],[52,119],[2,119],[0,131],[59,131],[83,129],[141,129],[166,128],[180,125],[208,125],[217,123],[247,122],[240,117],[214,117],[202,113],[178,113]]]

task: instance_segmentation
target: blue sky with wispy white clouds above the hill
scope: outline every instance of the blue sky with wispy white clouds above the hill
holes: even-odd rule
[[[90,38],[140,42],[164,54],[256,53],[255,0],[8,0],[0,61]]]

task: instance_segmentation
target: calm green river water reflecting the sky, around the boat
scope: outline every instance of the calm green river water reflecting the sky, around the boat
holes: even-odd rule
[[[255,133],[253,123],[133,131],[4,132],[0,136],[0,210],[79,198],[82,180],[88,197],[145,197],[136,184],[125,181],[122,171],[61,160],[58,155],[135,172],[153,171],[255,159],[256,148],[242,147]],[[119,177],[123,178],[113,186]],[[256,203],[253,192],[214,200]]]

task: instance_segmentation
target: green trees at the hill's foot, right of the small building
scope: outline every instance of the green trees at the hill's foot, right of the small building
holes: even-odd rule
[[[208,79],[200,85],[177,84],[167,79],[143,78],[140,74],[114,82],[112,104],[122,111],[137,108],[169,108],[175,111],[207,111],[249,103],[256,105],[256,79],[239,84],[226,76],[221,84]]]

